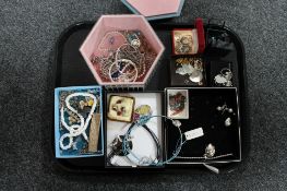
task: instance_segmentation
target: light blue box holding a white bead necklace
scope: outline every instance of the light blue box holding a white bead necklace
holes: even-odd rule
[[[104,155],[100,86],[55,89],[55,151],[57,158]]]

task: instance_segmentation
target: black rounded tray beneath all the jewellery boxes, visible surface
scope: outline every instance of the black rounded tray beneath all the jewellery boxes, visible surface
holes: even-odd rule
[[[84,59],[82,58],[79,48],[84,41],[85,37],[93,27],[94,22],[81,22],[68,27],[59,37],[56,46],[56,56],[55,56],[55,87],[61,86],[76,86],[76,85],[95,85],[97,84],[93,74],[89,72],[88,67],[86,65]],[[171,55],[171,40],[170,40],[170,31],[172,28],[193,27],[193,24],[152,24],[157,35],[164,43],[166,50],[160,59],[160,63],[157,67],[155,75],[153,75],[148,85],[146,86],[147,91],[164,91],[165,87],[170,86],[169,80],[169,63]],[[231,56],[232,62],[236,64],[236,79],[237,87],[239,95],[239,109],[240,109],[240,121],[241,121],[241,151],[242,151],[242,160],[247,158],[249,153],[249,129],[247,121],[247,83],[246,83],[246,58],[244,58],[244,48],[239,36],[224,25],[206,24],[206,27],[213,29],[225,31],[231,38],[235,47],[236,53]],[[229,59],[230,59],[229,58]],[[208,60],[208,58],[207,58]],[[55,158],[55,129],[51,128],[51,155],[53,157],[55,169],[61,170],[64,172],[76,172],[76,174],[96,174],[96,172],[108,172],[108,171],[119,171],[118,169],[105,168],[105,156],[103,157],[86,157],[86,158]],[[225,164],[222,169],[225,171],[234,170],[239,164]],[[201,165],[202,166],[202,165]],[[171,171],[178,169],[195,169],[194,165],[166,165],[165,168],[160,169],[164,171]],[[158,169],[152,168],[141,168],[141,169],[120,169],[121,171],[155,171]],[[174,171],[172,170],[172,171]]]

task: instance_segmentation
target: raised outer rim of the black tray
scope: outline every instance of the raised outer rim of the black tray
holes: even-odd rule
[[[60,79],[58,76],[61,75],[61,64],[59,64],[59,60],[61,60],[61,56],[60,56],[60,52],[62,51],[63,49],[63,44],[65,43],[65,40],[74,33],[74,29],[76,28],[91,28],[93,27],[93,25],[96,23],[96,21],[82,21],[82,22],[76,22],[74,24],[71,24],[70,26],[68,26],[64,31],[62,31],[56,41],[56,45],[55,45],[55,55],[53,55],[53,86],[55,87],[58,87],[59,84],[60,84]],[[172,22],[167,22],[167,23],[154,23],[152,22],[151,23],[152,27],[155,29],[155,31],[158,31],[160,29],[160,27],[165,27],[165,26],[172,26],[172,27],[191,27],[193,26],[194,24],[193,23],[172,23]],[[241,64],[238,64],[238,67],[240,68],[238,71],[239,73],[239,77],[240,77],[240,83],[239,83],[239,108],[240,108],[240,111],[241,111],[241,118],[240,118],[240,123],[241,123],[241,127],[244,127],[244,128],[240,128],[240,136],[242,138],[242,129],[243,131],[246,132],[244,133],[244,138],[243,140],[246,141],[250,141],[250,133],[247,133],[247,131],[250,132],[250,129],[249,129],[249,123],[250,123],[250,120],[248,118],[249,116],[249,102],[248,102],[248,84],[247,84],[247,71],[246,71],[246,50],[244,50],[244,46],[243,46],[243,43],[241,40],[241,38],[238,36],[238,34],[232,31],[231,28],[227,27],[226,25],[218,25],[218,24],[204,24],[204,27],[206,26],[211,26],[211,27],[216,27],[216,28],[220,28],[220,29],[225,29],[226,32],[228,32],[229,34],[231,34],[234,36],[234,38],[236,38],[237,40],[237,49],[238,49],[238,46],[240,47],[240,50],[241,50]],[[105,88],[103,88],[105,91]],[[104,94],[104,93],[103,93]],[[52,115],[53,116],[53,115]],[[53,121],[53,119],[52,119]],[[99,170],[83,170],[81,168],[74,168],[72,169],[71,167],[64,165],[63,163],[59,162],[59,159],[63,159],[63,158],[56,158],[55,156],[55,152],[53,152],[53,132],[55,132],[55,128],[51,128],[51,136],[50,136],[50,154],[51,154],[51,157],[52,157],[52,163],[53,165],[56,165],[53,167],[53,169],[56,171],[59,171],[59,172],[69,172],[69,174],[101,174],[101,172],[111,172],[111,170],[106,170],[105,167],[103,167],[103,169],[99,169]],[[248,136],[248,138],[246,138]],[[242,141],[242,139],[241,139]],[[242,142],[241,142],[242,143]],[[241,146],[241,153],[244,153],[246,156],[243,156],[243,154],[241,154],[241,163],[229,163],[228,166],[230,166],[229,168],[228,167],[225,167],[226,169],[226,172],[230,172],[234,170],[234,166],[232,164],[242,164],[242,160],[249,155],[249,145],[244,145],[244,152],[242,152],[242,144],[240,145]],[[189,165],[189,164],[177,164],[178,166],[175,167],[175,165],[171,165],[169,164],[170,166],[168,166],[168,168],[164,168],[164,170],[160,170],[160,171],[187,171],[187,170],[190,170],[190,169],[196,169],[196,167],[199,167],[198,165]],[[214,166],[216,166],[216,164],[214,164]],[[237,165],[239,166],[239,165]],[[188,168],[184,168],[184,167],[188,167]],[[202,168],[202,165],[200,166]],[[130,170],[130,171],[124,171],[124,172],[158,172],[159,170],[156,170],[156,169],[147,169],[147,170]],[[123,172],[123,171],[120,171],[120,170],[112,170],[112,172]]]

